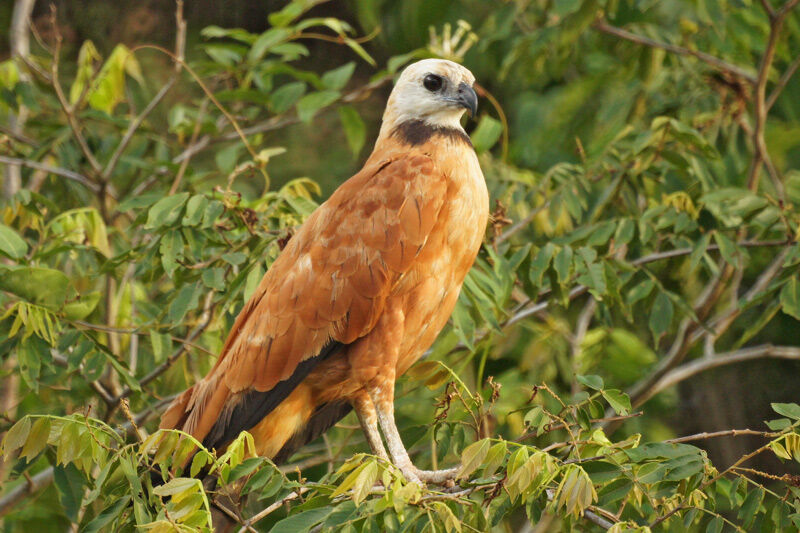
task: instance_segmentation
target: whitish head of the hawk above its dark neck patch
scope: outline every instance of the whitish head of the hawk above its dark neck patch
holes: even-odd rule
[[[464,111],[474,115],[478,107],[474,82],[472,72],[446,59],[423,59],[409,65],[389,96],[381,134],[414,120],[462,130]]]

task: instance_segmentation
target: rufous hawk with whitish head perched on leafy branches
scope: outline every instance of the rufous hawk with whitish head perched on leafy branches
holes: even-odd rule
[[[397,378],[450,317],[488,221],[460,123],[475,114],[474,81],[445,60],[403,71],[364,168],[291,238],[162,428],[218,450],[247,430],[259,455],[281,462],[354,409],[372,452],[408,480],[453,474],[412,464],[393,402]]]

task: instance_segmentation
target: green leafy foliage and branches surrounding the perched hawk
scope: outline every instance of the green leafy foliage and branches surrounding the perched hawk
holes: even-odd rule
[[[0,6],[3,42],[24,3]],[[30,52],[0,63],[3,530],[207,527],[227,484],[153,490],[191,449],[149,432],[429,55],[482,87],[467,127],[497,203],[397,405],[417,464],[460,479],[420,492],[348,461],[347,418],[280,471],[244,437],[209,458],[249,479],[231,511],[264,531],[800,527],[797,3],[36,3]]]

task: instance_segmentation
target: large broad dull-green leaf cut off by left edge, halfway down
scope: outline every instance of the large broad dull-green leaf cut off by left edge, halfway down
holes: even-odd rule
[[[60,309],[67,297],[69,278],[43,267],[0,265],[0,289],[50,309]]]

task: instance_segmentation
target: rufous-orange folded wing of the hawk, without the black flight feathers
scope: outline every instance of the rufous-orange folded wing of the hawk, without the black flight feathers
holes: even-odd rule
[[[191,396],[176,400],[162,427],[199,439],[211,432],[218,445],[243,420],[247,426],[266,416],[333,353],[331,345],[368,334],[430,234],[446,187],[425,155],[368,164],[339,187],[289,241],[236,318],[214,368]],[[255,392],[258,402],[242,401]]]

